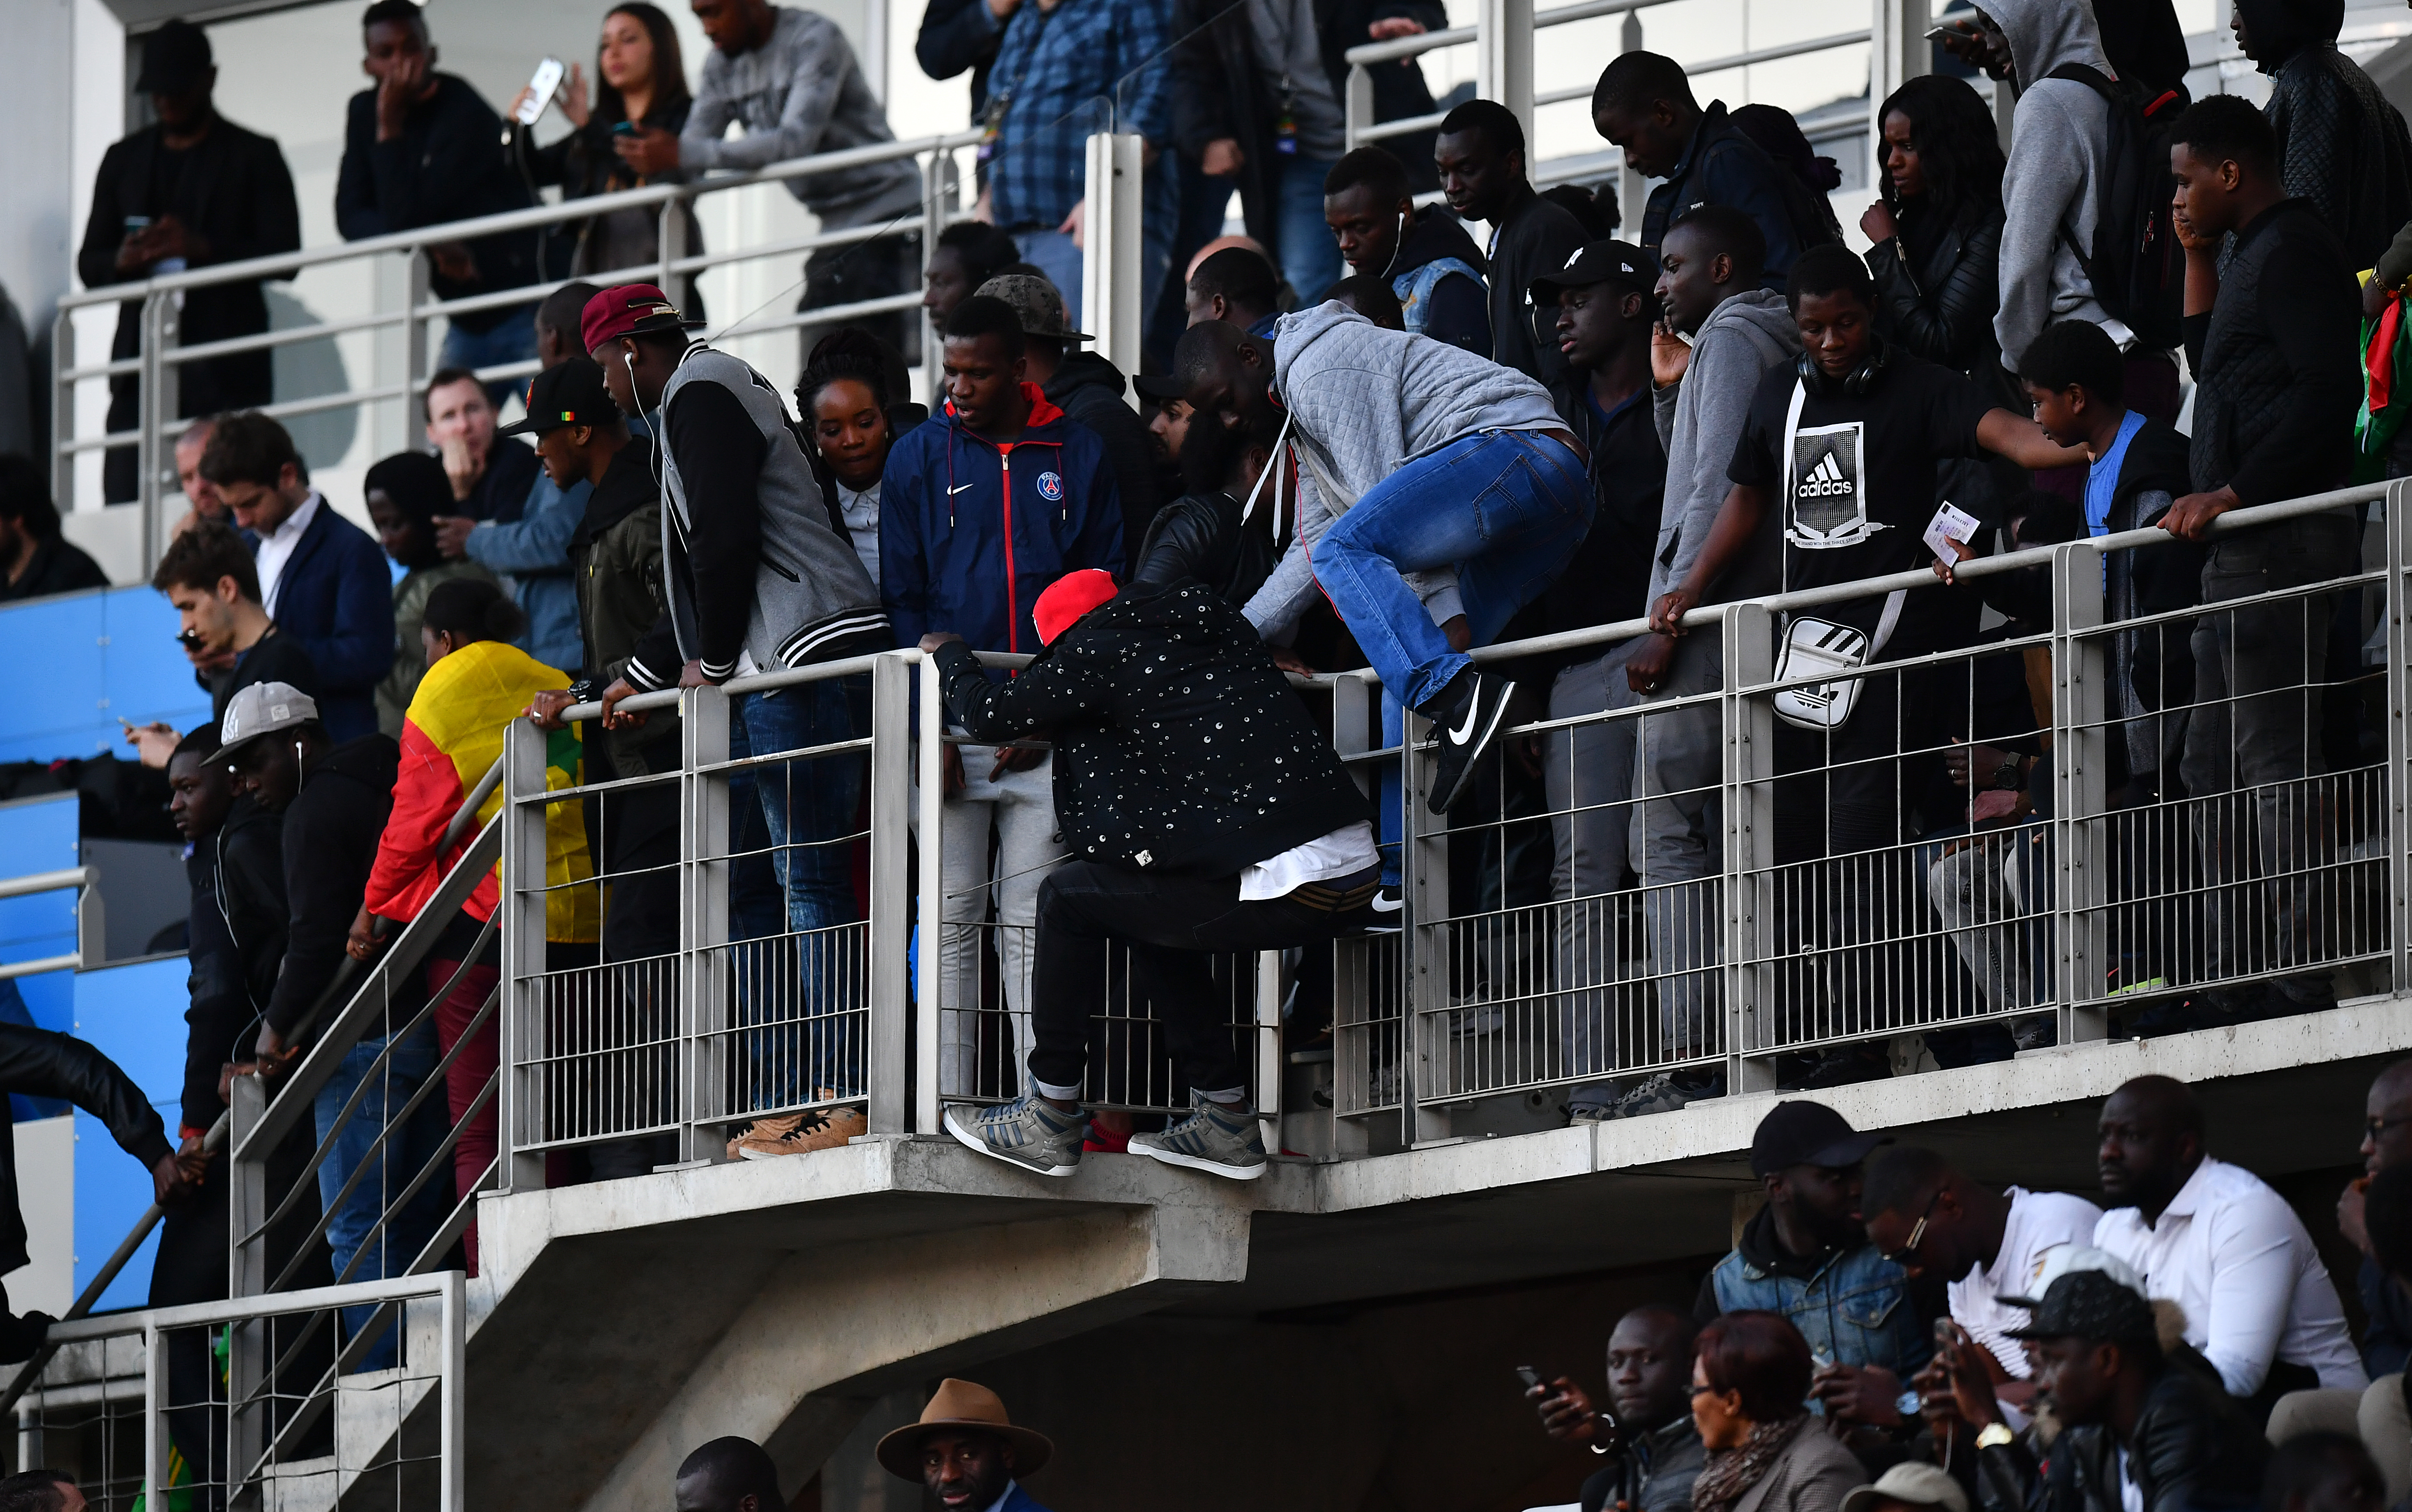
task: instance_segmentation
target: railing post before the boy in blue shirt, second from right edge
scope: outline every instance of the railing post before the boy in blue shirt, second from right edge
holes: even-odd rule
[[[2110,1035],[2110,646],[2103,552],[2072,540],[2053,552],[2053,953],[2060,965],[2060,1044]],[[2120,736],[2125,738],[2125,733]],[[2152,810],[2137,810],[2139,820]],[[2130,820],[2130,822],[2132,822]]]

